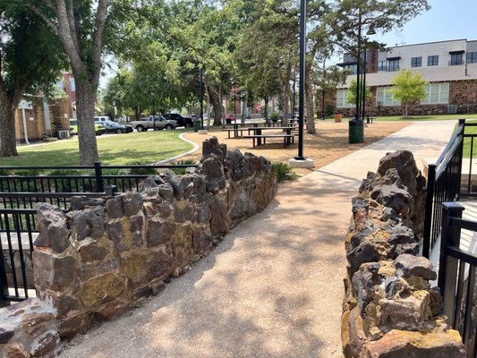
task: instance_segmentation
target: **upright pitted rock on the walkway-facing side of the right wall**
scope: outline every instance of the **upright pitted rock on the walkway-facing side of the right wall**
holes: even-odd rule
[[[371,302],[374,291],[379,289],[382,283],[382,278],[379,277],[379,267],[379,262],[363,263],[353,275],[354,295],[362,313]]]

